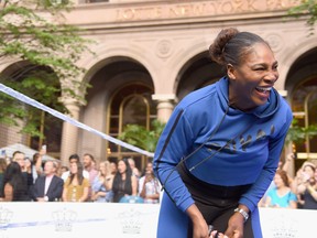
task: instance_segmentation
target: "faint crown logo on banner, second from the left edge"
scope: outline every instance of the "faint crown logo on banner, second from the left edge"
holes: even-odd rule
[[[77,213],[69,209],[53,212],[52,214],[56,231],[72,231],[73,224],[77,218]]]

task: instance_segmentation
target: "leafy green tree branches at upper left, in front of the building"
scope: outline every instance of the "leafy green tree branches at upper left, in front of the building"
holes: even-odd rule
[[[77,62],[90,52],[92,42],[80,36],[80,29],[64,23],[64,13],[70,9],[66,0],[0,0],[0,64],[15,62],[15,71],[2,72],[0,82],[62,112],[67,109],[58,101],[61,96],[84,100],[89,86],[78,82],[85,68]],[[41,117],[0,94],[0,122],[19,125],[23,120],[22,132],[43,137]]]

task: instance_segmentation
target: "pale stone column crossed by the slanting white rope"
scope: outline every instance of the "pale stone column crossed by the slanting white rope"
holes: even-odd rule
[[[75,99],[62,99],[65,107],[69,110],[69,117],[75,120],[79,119],[80,104]],[[62,132],[62,144],[61,144],[61,161],[62,164],[68,164],[68,158],[70,154],[77,153],[78,148],[78,128],[64,121]]]

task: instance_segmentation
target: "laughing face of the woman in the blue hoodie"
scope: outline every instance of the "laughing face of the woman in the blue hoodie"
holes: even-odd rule
[[[277,62],[265,43],[255,43],[239,65],[227,66],[230,78],[229,101],[240,110],[264,105],[278,78]]]

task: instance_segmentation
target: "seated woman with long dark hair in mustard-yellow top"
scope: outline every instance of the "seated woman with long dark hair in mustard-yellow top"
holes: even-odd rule
[[[64,183],[63,202],[86,202],[89,193],[89,180],[83,175],[83,164],[72,162],[69,166],[70,175]]]

